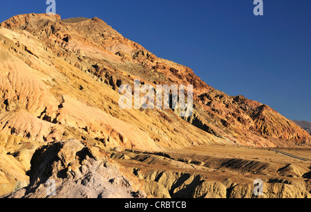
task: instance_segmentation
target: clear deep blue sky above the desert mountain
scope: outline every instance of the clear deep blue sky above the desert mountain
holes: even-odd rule
[[[311,121],[311,1],[56,0],[57,14],[99,17],[160,58],[185,64],[207,84]],[[2,1],[0,21],[43,13],[46,1]]]

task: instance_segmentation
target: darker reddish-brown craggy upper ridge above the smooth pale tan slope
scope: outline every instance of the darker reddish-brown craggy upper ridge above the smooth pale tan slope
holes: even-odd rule
[[[204,113],[195,109],[194,116],[186,121],[225,142],[273,146],[291,144],[284,141],[311,140],[310,135],[271,107],[210,87],[188,67],[158,58],[97,17],[64,23],[59,15],[17,15],[1,26],[28,31],[59,58],[106,81],[115,91],[117,84],[133,85],[133,78],[151,85],[194,85],[194,105]],[[272,144],[274,140],[277,144]]]

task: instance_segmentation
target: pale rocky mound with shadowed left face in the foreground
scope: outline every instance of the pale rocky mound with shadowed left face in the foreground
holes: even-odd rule
[[[120,168],[99,148],[75,139],[50,143],[32,157],[30,185],[4,197],[146,197],[140,182]]]

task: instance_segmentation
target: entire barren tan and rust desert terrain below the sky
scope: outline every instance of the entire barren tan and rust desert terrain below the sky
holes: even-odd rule
[[[121,109],[121,85],[193,85],[194,112]],[[311,197],[311,136],[101,19],[0,24],[1,197]],[[55,192],[47,193],[48,182]]]

